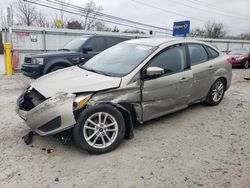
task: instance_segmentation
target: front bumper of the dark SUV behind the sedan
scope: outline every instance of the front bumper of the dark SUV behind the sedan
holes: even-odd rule
[[[22,64],[21,71],[25,76],[38,78],[42,76],[43,65],[24,63]]]

